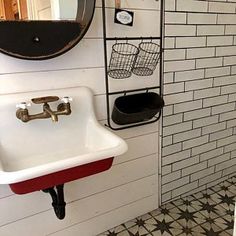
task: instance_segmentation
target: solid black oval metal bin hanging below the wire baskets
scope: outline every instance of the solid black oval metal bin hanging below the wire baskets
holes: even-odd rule
[[[164,100],[153,92],[125,95],[115,100],[112,120],[127,125],[152,119],[164,107]]]

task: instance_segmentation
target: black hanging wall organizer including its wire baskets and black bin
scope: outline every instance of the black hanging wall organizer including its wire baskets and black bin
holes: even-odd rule
[[[105,1],[102,0],[106,126],[112,130],[123,130],[154,123],[160,119],[164,107],[162,93],[164,0],[160,0],[160,36],[152,37],[107,37]],[[108,42],[113,43],[109,55]],[[157,68],[159,78],[156,86],[110,91],[111,80],[119,80],[122,83],[132,75],[148,77],[153,75]],[[119,97],[115,99],[111,113],[111,100],[114,100],[112,96]]]

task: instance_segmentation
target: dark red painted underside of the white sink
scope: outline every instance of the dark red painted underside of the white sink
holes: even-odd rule
[[[108,170],[111,168],[112,162],[113,157],[101,161],[95,161],[34,179],[10,184],[10,188],[16,194],[25,194],[47,189]]]

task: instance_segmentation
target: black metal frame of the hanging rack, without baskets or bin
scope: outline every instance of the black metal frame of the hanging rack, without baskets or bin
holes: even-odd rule
[[[114,127],[111,123],[111,111],[110,111],[110,100],[111,96],[124,94],[127,93],[136,93],[136,92],[149,92],[150,90],[159,90],[159,95],[163,97],[163,23],[164,23],[164,0],[160,0],[160,36],[155,37],[107,37],[107,27],[106,27],[106,0],[102,0],[102,21],[103,21],[103,42],[104,42],[104,64],[105,64],[105,86],[106,86],[106,108],[107,108],[107,124],[105,124],[107,127],[111,128],[112,130],[124,130],[128,128],[143,126],[147,124],[152,124],[154,122],[157,122],[161,118],[162,109],[159,111],[159,113],[153,117],[153,119],[149,121],[144,121],[140,123],[134,123],[131,125],[125,125],[125,126],[118,126]],[[156,0],[154,0],[156,1]],[[120,90],[111,92],[110,91],[110,85],[109,85],[109,71],[108,71],[108,42],[118,42],[118,41],[141,41],[144,40],[159,40],[160,44],[160,53],[159,53],[159,83],[157,86],[152,87],[145,87],[145,88],[138,88],[138,89],[131,89],[131,90]],[[122,82],[122,81],[121,81]]]

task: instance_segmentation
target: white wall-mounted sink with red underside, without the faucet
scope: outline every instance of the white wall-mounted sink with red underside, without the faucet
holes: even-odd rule
[[[72,114],[23,123],[15,105],[34,97],[70,96]],[[56,110],[60,103],[50,106]],[[29,107],[29,113],[42,105]],[[0,99],[0,184],[18,194],[46,189],[111,167],[126,143],[96,120],[93,94],[86,87],[4,95]]]

